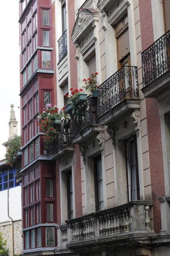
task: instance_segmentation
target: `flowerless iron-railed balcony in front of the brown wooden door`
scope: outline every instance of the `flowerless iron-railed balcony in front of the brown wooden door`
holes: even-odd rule
[[[97,90],[100,125],[113,125],[140,109],[137,67],[122,67]]]

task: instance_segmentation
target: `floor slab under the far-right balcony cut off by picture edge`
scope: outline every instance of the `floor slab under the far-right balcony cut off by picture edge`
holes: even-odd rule
[[[170,90],[170,70],[142,88],[145,98],[158,98]]]

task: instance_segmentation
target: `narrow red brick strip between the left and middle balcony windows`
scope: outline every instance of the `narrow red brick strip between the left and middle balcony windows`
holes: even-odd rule
[[[71,41],[71,33],[75,23],[74,0],[68,1],[68,33],[69,33],[69,57],[70,57],[70,81],[71,87],[77,88],[77,61],[75,59],[76,48]],[[82,182],[81,182],[81,164],[79,146],[75,145],[74,161],[74,189],[75,189],[75,207],[76,218],[82,216]]]

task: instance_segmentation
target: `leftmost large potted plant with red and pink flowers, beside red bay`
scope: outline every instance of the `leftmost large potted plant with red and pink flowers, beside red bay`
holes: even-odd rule
[[[57,137],[58,130],[57,127],[60,125],[62,116],[58,112],[58,108],[55,105],[53,108],[51,104],[46,105],[46,109],[42,111],[42,114],[37,116],[37,126],[39,126],[43,133],[46,143],[51,142]]]

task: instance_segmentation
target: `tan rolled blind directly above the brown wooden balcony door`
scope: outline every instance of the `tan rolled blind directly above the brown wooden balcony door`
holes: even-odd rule
[[[124,58],[130,52],[129,46],[129,30],[126,29],[117,38],[117,49],[118,49],[118,59],[119,61]]]

